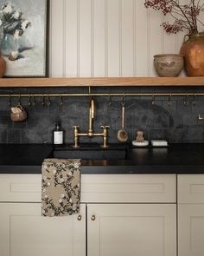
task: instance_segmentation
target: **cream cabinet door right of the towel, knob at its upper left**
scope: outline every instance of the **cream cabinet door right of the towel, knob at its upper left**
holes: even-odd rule
[[[93,204],[88,256],[175,256],[175,204]]]

